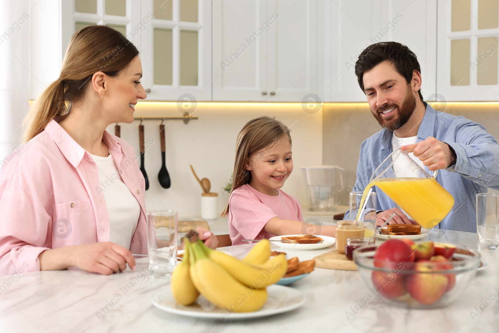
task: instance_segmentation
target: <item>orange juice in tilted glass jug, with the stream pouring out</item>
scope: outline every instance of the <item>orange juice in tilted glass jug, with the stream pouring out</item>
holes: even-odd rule
[[[425,229],[439,224],[454,206],[452,195],[434,178],[381,178],[367,185],[360,207],[372,186],[379,187]],[[357,220],[359,215],[360,210]]]

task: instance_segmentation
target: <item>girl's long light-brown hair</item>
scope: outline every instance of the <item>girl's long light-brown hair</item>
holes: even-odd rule
[[[246,164],[249,163],[251,167],[259,163],[264,157],[270,155],[270,151],[279,144],[282,137],[286,137],[291,142],[289,129],[286,125],[267,116],[261,116],[251,119],[238,134],[236,141],[236,161],[234,162],[234,174],[232,180],[232,191],[241,185],[248,184],[251,180],[250,171],[246,170]],[[262,150],[261,154],[250,156]],[[221,216],[226,216],[229,212],[229,201],[225,206]]]

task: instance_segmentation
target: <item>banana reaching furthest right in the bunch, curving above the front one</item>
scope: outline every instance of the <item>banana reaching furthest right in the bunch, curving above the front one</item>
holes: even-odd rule
[[[277,283],[287,269],[287,261],[282,254],[272,257],[260,265],[250,265],[219,251],[210,251],[209,256],[236,280],[253,288],[265,288]]]

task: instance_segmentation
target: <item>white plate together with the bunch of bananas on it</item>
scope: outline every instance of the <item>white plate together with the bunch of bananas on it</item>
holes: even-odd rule
[[[287,271],[284,254],[270,256],[270,242],[256,243],[243,259],[207,248],[196,235],[185,242],[170,287],[152,304],[165,312],[212,319],[271,316],[299,308],[299,290],[275,285]]]

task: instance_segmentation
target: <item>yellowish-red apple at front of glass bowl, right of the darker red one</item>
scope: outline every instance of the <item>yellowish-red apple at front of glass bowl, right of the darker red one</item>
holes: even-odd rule
[[[433,264],[429,260],[421,260],[414,264],[418,273],[406,278],[406,288],[413,299],[424,305],[430,305],[444,295],[448,278],[445,274],[434,272]]]

